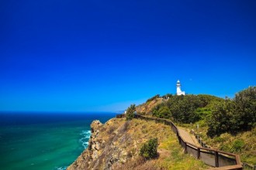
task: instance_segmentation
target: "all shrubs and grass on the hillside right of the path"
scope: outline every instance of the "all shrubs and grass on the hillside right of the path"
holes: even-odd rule
[[[168,101],[151,108],[151,113],[195,129],[207,145],[256,164],[256,87],[241,90],[234,99],[168,95]]]

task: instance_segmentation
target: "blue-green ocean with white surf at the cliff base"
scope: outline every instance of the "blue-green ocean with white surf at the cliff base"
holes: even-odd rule
[[[1,169],[66,169],[84,151],[93,120],[116,113],[0,113]]]

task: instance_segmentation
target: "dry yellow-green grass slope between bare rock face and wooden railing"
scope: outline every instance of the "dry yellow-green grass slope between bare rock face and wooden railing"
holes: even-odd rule
[[[123,122],[122,124],[125,124]],[[123,125],[121,125],[122,127]],[[185,155],[183,148],[178,144],[176,135],[168,125],[155,124],[154,121],[130,121],[127,134],[130,142],[126,142],[130,160],[124,164],[116,164],[113,169],[206,169],[209,166],[203,162]],[[144,162],[139,156],[141,146],[150,138],[158,138],[159,158]],[[130,154],[129,154],[130,153]]]

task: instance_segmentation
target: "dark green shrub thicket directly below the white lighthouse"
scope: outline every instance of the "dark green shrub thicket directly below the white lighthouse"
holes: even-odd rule
[[[178,123],[194,123],[208,117],[215,103],[222,98],[209,95],[168,95],[168,101],[158,104],[152,109],[155,117],[172,119]]]

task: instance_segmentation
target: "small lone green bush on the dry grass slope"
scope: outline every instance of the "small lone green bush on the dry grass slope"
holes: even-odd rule
[[[157,158],[157,138],[152,138],[140,148],[140,156],[144,159]]]

